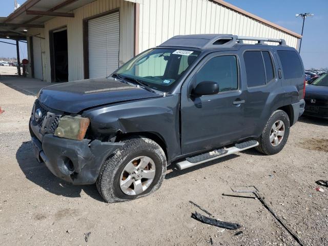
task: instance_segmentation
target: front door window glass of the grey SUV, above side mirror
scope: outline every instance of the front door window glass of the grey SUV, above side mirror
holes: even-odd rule
[[[234,55],[216,56],[196,74],[197,84],[209,80],[219,84],[219,91],[234,91],[238,89],[237,58]]]

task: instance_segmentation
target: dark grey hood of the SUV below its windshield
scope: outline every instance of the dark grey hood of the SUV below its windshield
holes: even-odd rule
[[[38,99],[49,108],[76,114],[95,106],[161,96],[110,78],[94,78],[45,87]]]

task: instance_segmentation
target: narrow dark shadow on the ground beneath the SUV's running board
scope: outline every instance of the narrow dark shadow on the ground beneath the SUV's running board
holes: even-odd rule
[[[218,159],[215,159],[215,160],[204,162],[202,164],[199,164],[197,166],[187,168],[187,169],[184,169],[184,170],[179,170],[176,166],[177,162],[173,162],[168,167],[168,171],[171,171],[171,172],[166,174],[165,179],[175,178],[175,177],[178,177],[180,175],[190,173],[190,172],[196,171],[196,170],[201,169],[201,168],[210,167],[210,166],[216,165],[216,164],[217,165],[221,164],[222,166],[224,166],[224,161],[231,160],[231,159],[234,159],[236,157],[239,157],[239,155],[237,155],[237,154],[227,155],[227,156],[224,156],[222,158],[218,158]]]

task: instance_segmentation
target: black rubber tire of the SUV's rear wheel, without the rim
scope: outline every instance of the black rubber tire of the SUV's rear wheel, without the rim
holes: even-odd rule
[[[285,127],[285,133],[280,144],[278,146],[272,146],[270,142],[271,128],[277,120],[282,120]],[[277,154],[285,146],[289,137],[289,132],[290,132],[290,120],[288,114],[286,114],[282,110],[278,110],[274,112],[270,117],[268,124],[262,133],[262,145],[263,145],[262,149],[265,150],[265,152],[268,152],[268,154]]]

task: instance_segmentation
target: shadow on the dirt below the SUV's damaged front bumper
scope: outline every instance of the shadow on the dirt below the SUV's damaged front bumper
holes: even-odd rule
[[[44,163],[38,163],[33,154],[31,141],[23,142],[16,152],[16,159],[26,178],[48,192],[58,196],[81,197],[80,193],[83,190],[92,198],[104,202],[95,185],[74,186],[54,176]]]

